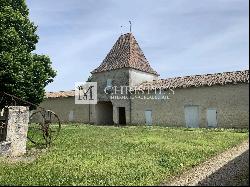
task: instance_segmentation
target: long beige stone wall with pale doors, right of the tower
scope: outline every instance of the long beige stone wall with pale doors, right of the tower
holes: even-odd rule
[[[207,127],[208,108],[217,110],[218,127],[249,126],[249,84],[174,90],[169,100],[132,100],[132,122],[145,124],[144,110],[152,109],[153,124],[185,127],[184,106],[199,106],[199,126]],[[141,95],[143,96],[143,95]]]

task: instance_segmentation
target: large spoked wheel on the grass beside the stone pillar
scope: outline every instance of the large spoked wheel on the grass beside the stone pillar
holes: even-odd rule
[[[37,145],[49,145],[60,132],[61,122],[51,110],[36,111],[30,115],[28,139]]]

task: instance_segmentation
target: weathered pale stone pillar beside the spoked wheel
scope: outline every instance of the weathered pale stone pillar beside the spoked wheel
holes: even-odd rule
[[[10,155],[21,156],[26,153],[29,123],[29,107],[9,106],[6,141],[11,142]]]

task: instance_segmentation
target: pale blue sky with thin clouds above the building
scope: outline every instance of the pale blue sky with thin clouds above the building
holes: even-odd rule
[[[26,1],[38,25],[36,53],[57,70],[46,91],[84,82],[129,20],[161,78],[249,69],[248,0]]]

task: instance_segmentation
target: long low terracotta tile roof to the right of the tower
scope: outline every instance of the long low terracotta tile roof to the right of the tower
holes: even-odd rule
[[[249,70],[160,79],[152,82],[144,82],[137,89],[174,89],[238,83],[249,83]]]

